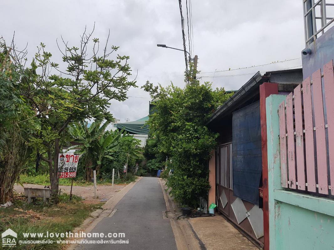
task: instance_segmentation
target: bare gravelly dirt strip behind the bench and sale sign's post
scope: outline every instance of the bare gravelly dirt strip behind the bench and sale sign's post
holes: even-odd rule
[[[34,184],[23,184],[24,187],[32,187],[32,188],[44,188],[42,185],[34,185]],[[106,202],[111,197],[113,197],[117,192],[122,190],[126,185],[98,185],[97,187],[97,196],[98,199],[94,198],[94,186],[73,186],[72,194],[81,196],[85,199],[85,203],[99,203]],[[59,186],[61,189],[61,193],[69,194],[71,191],[71,186]],[[14,185],[14,191],[17,193],[24,193],[24,189],[21,185]]]

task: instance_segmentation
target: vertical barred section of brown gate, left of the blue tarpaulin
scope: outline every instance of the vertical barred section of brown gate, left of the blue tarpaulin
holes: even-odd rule
[[[232,142],[216,148],[216,184],[232,189]]]

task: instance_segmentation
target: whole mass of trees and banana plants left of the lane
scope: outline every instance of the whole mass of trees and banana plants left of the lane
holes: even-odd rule
[[[14,39],[0,38],[0,204],[15,200],[15,183],[50,186],[57,204],[58,186],[71,182],[59,179],[58,154],[73,144],[81,154],[76,185],[92,183],[93,170],[104,184],[113,168],[116,184],[141,174],[139,141],[105,130],[114,121],[110,101],[126,100],[127,90],[137,87],[129,56],[93,31],[85,30],[76,46],[58,43],[62,62],[53,62],[43,43],[31,60]]]

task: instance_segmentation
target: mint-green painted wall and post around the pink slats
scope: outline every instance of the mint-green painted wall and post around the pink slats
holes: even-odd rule
[[[266,99],[270,250],[333,249],[334,200],[282,188],[278,109],[284,100]]]

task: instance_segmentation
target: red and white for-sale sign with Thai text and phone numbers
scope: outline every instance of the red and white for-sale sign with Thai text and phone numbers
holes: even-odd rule
[[[58,156],[58,177],[74,178],[78,167],[79,155],[59,154]]]

